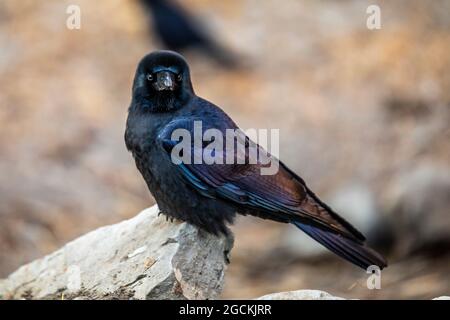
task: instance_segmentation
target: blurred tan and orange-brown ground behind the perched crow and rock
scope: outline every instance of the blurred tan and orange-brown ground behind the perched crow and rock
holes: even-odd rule
[[[144,2],[0,2],[0,277],[154,203],[123,142],[137,62],[168,46],[167,12]],[[390,262],[368,290],[295,227],[239,218],[223,297],[448,295],[450,1],[177,3],[232,57],[180,46],[196,93],[242,128],[280,128],[281,159]]]

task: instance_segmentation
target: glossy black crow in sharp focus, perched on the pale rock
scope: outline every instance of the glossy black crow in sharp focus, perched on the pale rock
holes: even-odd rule
[[[133,81],[125,144],[166,217],[215,235],[228,234],[236,214],[290,223],[363,269],[387,266],[355,227],[280,160],[277,172],[266,175],[261,174],[264,164],[260,162],[180,161],[184,157],[192,160],[208,148],[195,141],[184,150],[186,154],[173,157],[183,140],[174,133],[195,136],[196,123],[201,123],[202,132],[214,129],[223,139],[227,130],[239,129],[221,108],[195,94],[189,65],[181,54],[162,50],[143,57]],[[250,139],[244,138],[248,146]],[[235,152],[230,153],[233,159],[238,157],[236,150],[227,148],[226,152]]]

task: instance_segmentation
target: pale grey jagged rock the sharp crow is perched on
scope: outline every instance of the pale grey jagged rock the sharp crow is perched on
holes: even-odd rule
[[[158,216],[99,228],[0,280],[1,299],[214,299],[231,237]]]

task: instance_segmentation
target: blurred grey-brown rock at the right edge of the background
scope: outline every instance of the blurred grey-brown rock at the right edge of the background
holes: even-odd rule
[[[436,164],[411,167],[390,190],[389,216],[402,237],[401,255],[450,252],[450,173]]]

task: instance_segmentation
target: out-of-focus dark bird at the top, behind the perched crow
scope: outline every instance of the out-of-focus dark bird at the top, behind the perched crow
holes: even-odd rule
[[[171,0],[141,0],[165,49],[198,49],[224,67],[239,67],[239,59],[219,44],[195,17]]]

